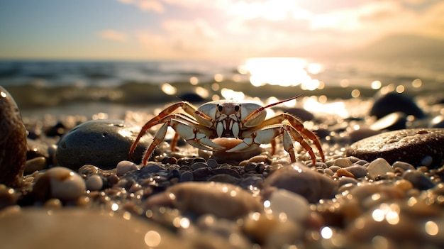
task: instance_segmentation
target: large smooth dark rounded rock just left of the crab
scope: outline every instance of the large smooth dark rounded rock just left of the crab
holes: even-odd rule
[[[114,168],[118,162],[129,160],[128,152],[139,131],[139,126],[122,120],[87,121],[60,140],[57,161],[73,170],[83,165],[94,165],[104,170]],[[133,155],[136,163],[140,163],[147,146],[148,139],[144,137]]]

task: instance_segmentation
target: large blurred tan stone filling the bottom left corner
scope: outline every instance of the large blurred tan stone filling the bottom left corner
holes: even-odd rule
[[[155,222],[128,212],[75,208],[0,213],[0,241],[2,248],[195,248]]]

